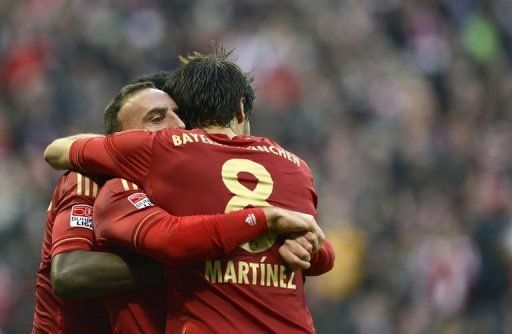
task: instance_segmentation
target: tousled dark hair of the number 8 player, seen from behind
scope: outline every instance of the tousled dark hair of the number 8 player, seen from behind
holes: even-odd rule
[[[230,54],[217,47],[212,54],[180,57],[164,90],[178,105],[187,127],[228,126],[242,98],[244,108],[252,109],[252,78],[227,59]]]

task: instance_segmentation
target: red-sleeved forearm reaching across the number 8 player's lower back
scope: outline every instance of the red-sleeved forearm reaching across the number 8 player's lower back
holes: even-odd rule
[[[245,222],[248,212],[254,212],[251,214],[255,219],[252,226]],[[128,247],[167,265],[190,264],[223,256],[238,244],[268,230],[266,217],[259,209],[189,217],[175,217],[159,211],[148,216],[140,228],[138,224],[132,227],[128,224],[109,225],[108,229],[96,230],[100,244]],[[129,228],[130,232],[123,228]]]

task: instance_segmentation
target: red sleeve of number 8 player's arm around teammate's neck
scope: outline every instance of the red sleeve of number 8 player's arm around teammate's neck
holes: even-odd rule
[[[149,171],[155,134],[129,130],[106,137],[78,139],[69,151],[72,168],[142,183]]]

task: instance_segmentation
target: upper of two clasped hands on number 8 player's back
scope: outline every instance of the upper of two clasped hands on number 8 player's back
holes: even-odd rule
[[[290,235],[294,238],[302,235],[313,245],[312,253],[322,247],[325,234],[313,216],[276,207],[263,208],[267,217],[268,228],[278,234]]]

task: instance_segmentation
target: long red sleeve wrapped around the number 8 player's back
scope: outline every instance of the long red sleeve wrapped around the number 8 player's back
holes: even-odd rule
[[[169,265],[218,258],[268,230],[261,209],[173,216],[154,206],[136,185],[120,179],[101,189],[94,217],[100,245],[129,249]]]

